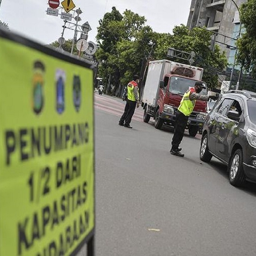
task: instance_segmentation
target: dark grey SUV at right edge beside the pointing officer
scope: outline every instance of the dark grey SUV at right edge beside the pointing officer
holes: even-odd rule
[[[255,97],[255,96],[254,96]],[[212,156],[227,165],[233,186],[256,181],[256,98],[228,91],[216,102],[204,123],[200,159]]]

